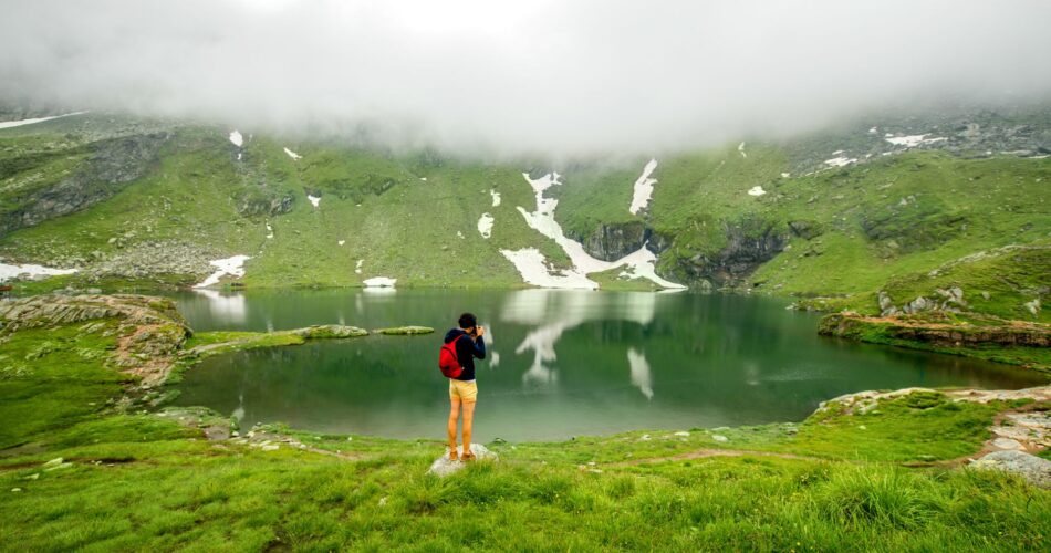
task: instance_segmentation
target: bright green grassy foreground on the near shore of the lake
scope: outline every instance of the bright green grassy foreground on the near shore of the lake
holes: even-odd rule
[[[2,337],[0,550],[1045,551],[1051,535],[1051,491],[953,461],[999,411],[1047,405],[914,393],[798,425],[499,442],[498,462],[438,479],[434,440],[209,440],[215,416],[127,395],[118,325]]]

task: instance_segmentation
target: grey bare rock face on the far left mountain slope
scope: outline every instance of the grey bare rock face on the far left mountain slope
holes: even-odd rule
[[[87,160],[71,176],[15,197],[11,210],[0,211],[0,237],[48,219],[80,211],[113,197],[143,177],[158,159],[171,134],[162,132],[98,140]]]

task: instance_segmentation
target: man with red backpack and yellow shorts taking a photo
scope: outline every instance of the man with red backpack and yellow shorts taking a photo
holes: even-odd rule
[[[478,326],[478,319],[471,313],[460,315],[459,327],[445,335],[445,343],[456,342],[456,358],[464,371],[460,376],[449,378],[449,459],[469,461],[471,453],[471,426],[475,418],[475,400],[478,398],[478,385],[475,383],[475,358],[486,358],[486,328]],[[456,422],[464,406],[464,455],[456,453]]]

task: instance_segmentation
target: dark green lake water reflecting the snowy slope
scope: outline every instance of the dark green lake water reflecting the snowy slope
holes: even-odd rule
[[[1041,383],[1003,365],[821,337],[816,315],[764,298],[336,290],[187,292],[176,301],[197,331],[329,323],[438,331],[239,352],[190,369],[177,403],[211,407],[242,427],[443,439],[449,400],[438,348],[462,311],[489,328],[490,355],[477,369],[477,441],[798,421],[851,392]]]

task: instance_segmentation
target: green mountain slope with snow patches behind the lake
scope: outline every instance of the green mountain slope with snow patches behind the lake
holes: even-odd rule
[[[558,167],[76,115],[0,131],[0,257],[81,269],[38,288],[188,285],[215,270],[209,261],[232,255],[249,257],[240,280],[252,286],[355,286],[376,276],[521,286],[502,252],[534,248],[552,274],[580,264],[579,252],[568,253],[575,246],[530,227],[539,225],[530,213],[548,209],[596,268],[645,246],[673,282],[828,296],[810,305],[871,312],[878,291],[908,275],[1048,243],[1047,113],[862,121],[660,157],[649,167],[652,200],[634,213],[647,158],[570,164],[554,177],[561,186],[543,190],[544,207],[530,178]],[[1002,271],[1051,280],[1047,249],[1032,251],[1036,261],[1008,258]],[[653,285],[603,271],[594,280],[604,288]],[[1047,303],[1047,286],[1014,286],[1008,311],[1042,317],[1013,305]]]

